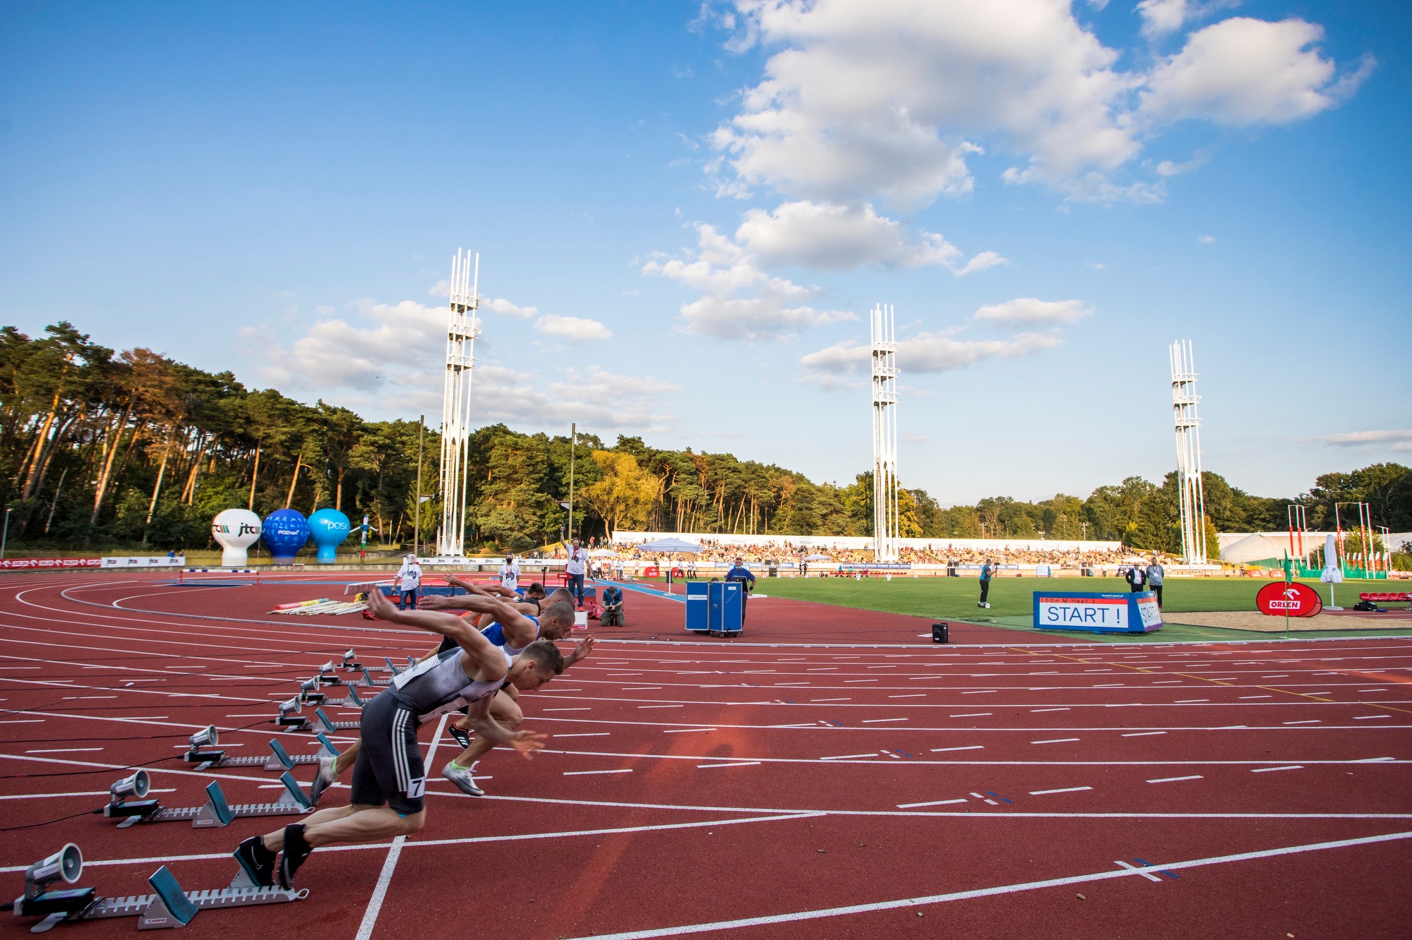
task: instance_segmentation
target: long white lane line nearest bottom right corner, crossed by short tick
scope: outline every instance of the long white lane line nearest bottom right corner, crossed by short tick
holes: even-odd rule
[[[648,940],[650,937],[672,937],[685,933],[709,933],[713,930],[731,930],[737,927],[758,927],[774,923],[792,923],[798,920],[818,920],[820,917],[839,917],[844,915],[871,913],[874,910],[895,910],[898,908],[915,908],[919,905],[935,905],[947,900],[964,900],[970,898],[988,898],[993,895],[1008,895],[1019,891],[1036,891],[1041,888],[1060,888],[1065,885],[1079,885],[1090,881],[1107,881],[1110,878],[1128,878],[1135,872],[1161,871],[1172,868],[1197,868],[1202,865],[1220,865],[1226,862],[1251,861],[1255,858],[1272,858],[1276,855],[1293,855],[1298,852],[1319,851],[1324,848],[1347,848],[1351,845],[1367,845],[1399,838],[1412,838],[1412,833],[1388,833],[1385,836],[1368,836],[1364,838],[1346,838],[1334,843],[1312,843],[1308,845],[1291,845],[1288,848],[1268,848],[1255,852],[1240,852],[1237,855],[1216,855],[1211,858],[1193,858],[1190,861],[1171,862],[1166,865],[1149,865],[1138,869],[1101,871],[1089,875],[1072,875],[1069,878],[1048,878],[1045,881],[1029,881],[995,888],[976,888],[971,891],[957,891],[946,895],[929,895],[925,898],[901,898],[897,900],[878,900],[864,905],[849,905],[844,908],[819,908],[813,910],[796,910],[784,915],[768,915],[761,917],[740,917],[737,920],[717,920],[714,923],[693,923],[678,927],[657,927],[648,930],[628,930],[623,933],[596,934],[592,940]],[[575,940],[589,940],[578,937]]]

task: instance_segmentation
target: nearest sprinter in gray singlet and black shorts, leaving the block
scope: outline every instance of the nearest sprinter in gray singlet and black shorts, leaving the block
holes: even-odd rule
[[[507,682],[517,689],[538,689],[563,672],[558,646],[549,641],[532,642],[510,662],[480,631],[453,614],[402,611],[381,591],[369,591],[369,610],[378,620],[449,637],[457,649],[429,656],[400,673],[363,709],[347,806],[319,810],[302,823],[240,843],[236,861],[257,885],[273,885],[278,878],[280,885],[289,888],[294,872],[321,845],[418,831],[426,820],[426,771],[417,730],[425,721],[466,707],[480,737],[508,744],[525,758],[544,747],[545,735],[507,731],[491,718],[490,699]]]

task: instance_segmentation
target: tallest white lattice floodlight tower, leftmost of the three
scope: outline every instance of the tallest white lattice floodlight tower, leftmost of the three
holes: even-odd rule
[[[466,555],[466,457],[470,442],[470,378],[480,336],[480,255],[460,248],[450,263],[450,313],[446,318],[446,390],[442,397],[442,522],[436,553]]]

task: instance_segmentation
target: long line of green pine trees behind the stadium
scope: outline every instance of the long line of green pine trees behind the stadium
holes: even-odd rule
[[[737,535],[871,535],[873,474],[813,483],[777,464],[729,453],[661,450],[641,438],[609,445],[583,433],[521,433],[504,425],[469,445],[469,542],[528,550],[563,536],[573,477],[573,528]],[[422,495],[417,500],[421,457]],[[30,337],[0,327],[0,498],[11,543],[143,550],[210,543],[210,518],[246,507],[261,517],[332,507],[361,521],[369,541],[435,538],[441,519],[435,425],[364,421],[275,390],[249,390],[150,349],[114,353],[61,322]],[[1374,524],[1412,529],[1412,470],[1372,464],[1317,477],[1296,497],[1258,497],[1203,474],[1209,543],[1214,531],[1279,531],[1286,505],[1332,528],[1334,504],[1371,504]],[[1123,541],[1180,549],[1176,473],[1161,484],[1128,477],[1080,498],[1027,502],[988,497],[942,507],[921,488],[898,498],[901,535]]]

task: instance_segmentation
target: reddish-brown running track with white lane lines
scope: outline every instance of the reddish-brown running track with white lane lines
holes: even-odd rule
[[[319,663],[431,645],[357,617],[253,613],[342,586],[169,580],[0,580],[0,827],[102,806],[140,764],[168,806],[203,802],[212,776],[232,803],[274,799],[274,773],[174,759],[186,734],[215,723],[230,755],[263,755],[264,716]],[[974,628],[973,645],[933,646],[907,634],[916,618],[850,635],[856,614],[810,611],[826,642],[779,638],[767,604],[747,642],[607,639],[524,699],[525,727],[554,737],[534,762],[491,754],[489,797],[441,781],[455,745],[426,727],[419,834],[321,850],[306,900],[206,912],[186,936],[1406,936],[1412,641]],[[17,896],[25,865],[76,841],[80,884],[102,895],[145,893],[160,864],[216,888],[234,844],[280,821],[120,831],[78,816],[7,831],[0,869]]]

